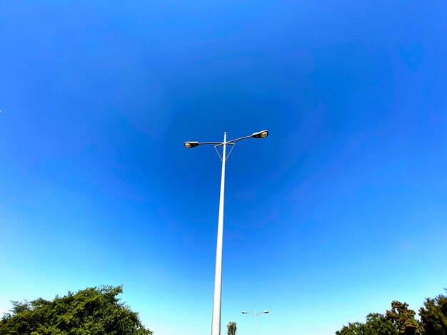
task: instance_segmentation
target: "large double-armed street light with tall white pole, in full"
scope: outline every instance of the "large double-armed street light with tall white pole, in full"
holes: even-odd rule
[[[224,142],[197,142],[186,141],[184,146],[186,149],[194,148],[199,145],[212,144],[217,151],[217,154],[222,161],[222,175],[221,175],[221,197],[219,200],[219,221],[217,225],[217,245],[216,245],[216,274],[214,277],[214,301],[213,301],[213,319],[211,321],[211,335],[221,335],[221,300],[222,300],[222,244],[224,238],[224,191],[225,191],[225,162],[231,154],[236,141],[245,140],[246,138],[266,138],[268,130],[261,130],[242,138],[235,138],[234,140],[226,140],[226,132],[224,133]],[[226,145],[231,145],[231,150],[226,155]],[[218,147],[223,146],[222,155],[217,150]]]

